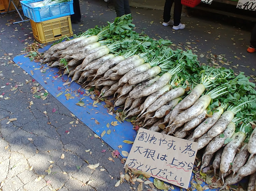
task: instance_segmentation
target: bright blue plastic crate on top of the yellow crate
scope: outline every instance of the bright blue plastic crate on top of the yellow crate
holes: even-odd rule
[[[31,7],[31,3],[41,2],[43,0],[23,0],[20,1],[24,15],[34,22],[42,22],[59,17],[74,14],[73,0],[65,3],[58,3],[43,7]]]

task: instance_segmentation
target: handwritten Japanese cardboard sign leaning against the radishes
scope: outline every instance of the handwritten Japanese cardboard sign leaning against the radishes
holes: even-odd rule
[[[125,166],[188,188],[198,143],[140,128]]]

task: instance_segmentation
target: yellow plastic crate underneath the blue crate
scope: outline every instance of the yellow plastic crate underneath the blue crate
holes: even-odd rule
[[[61,39],[63,36],[73,36],[70,16],[34,22],[30,19],[34,38],[41,43]]]

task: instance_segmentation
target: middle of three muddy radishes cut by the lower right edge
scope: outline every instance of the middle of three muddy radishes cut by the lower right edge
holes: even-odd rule
[[[250,159],[247,160],[247,162],[242,166],[237,174],[240,176],[248,176],[256,172],[256,155],[253,155],[252,157],[249,157]]]

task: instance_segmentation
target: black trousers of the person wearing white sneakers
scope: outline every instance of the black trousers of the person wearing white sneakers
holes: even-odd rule
[[[181,11],[182,11],[182,4],[181,0],[166,0],[165,1],[165,8],[163,9],[163,22],[169,22],[171,19],[171,9],[172,4],[174,3],[174,13],[173,13],[173,21],[174,26],[178,26],[181,23]]]

